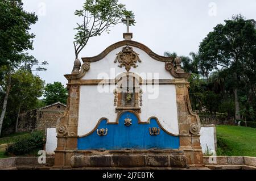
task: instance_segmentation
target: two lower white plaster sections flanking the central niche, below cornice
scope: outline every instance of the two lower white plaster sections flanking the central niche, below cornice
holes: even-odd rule
[[[106,86],[106,90],[110,89]],[[102,117],[115,122],[113,89],[110,92],[100,92],[97,86],[81,86],[79,106],[78,134],[82,136],[91,132]],[[177,121],[175,85],[142,86],[141,121],[157,117],[164,129],[172,134],[179,134]]]

